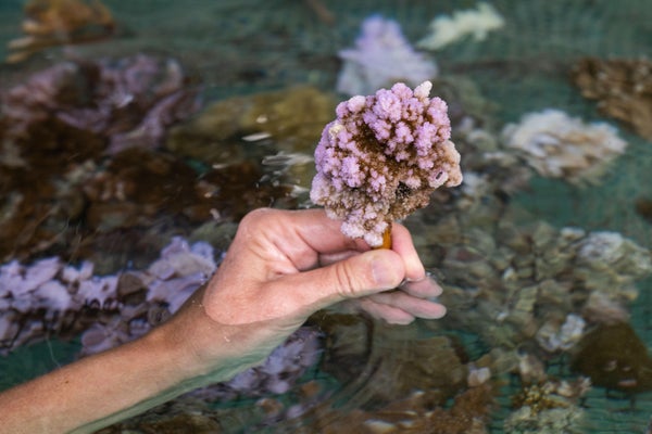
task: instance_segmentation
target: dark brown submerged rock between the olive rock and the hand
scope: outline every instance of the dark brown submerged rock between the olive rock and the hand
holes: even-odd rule
[[[275,181],[249,161],[198,174],[176,155],[127,149],[82,186],[85,222],[100,232],[152,227],[163,217],[183,227],[239,221],[262,206],[296,206],[292,187]]]

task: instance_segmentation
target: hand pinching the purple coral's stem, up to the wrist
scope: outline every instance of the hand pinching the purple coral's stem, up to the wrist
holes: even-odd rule
[[[187,304],[201,307],[204,324],[176,331],[185,330],[202,359],[230,353],[241,365],[261,361],[310,315],[340,302],[392,323],[443,316],[429,299],[441,289],[426,277],[403,226],[393,225],[391,250],[371,250],[339,226],[322,209],[250,213],[215,276]],[[190,308],[179,317],[189,318]]]

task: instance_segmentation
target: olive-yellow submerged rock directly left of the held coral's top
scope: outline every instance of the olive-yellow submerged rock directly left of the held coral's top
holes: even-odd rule
[[[256,148],[256,142],[265,141],[289,153],[311,155],[335,105],[333,95],[311,86],[233,97],[172,128],[165,148],[210,165],[238,161],[242,151],[235,148]]]

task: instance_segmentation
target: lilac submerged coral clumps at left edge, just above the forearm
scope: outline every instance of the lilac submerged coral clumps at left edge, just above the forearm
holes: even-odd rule
[[[154,311],[172,314],[180,307],[214,271],[213,255],[205,243],[189,245],[174,239],[143,272],[95,276],[92,263],[75,267],[59,257],[32,265],[8,263],[0,267],[0,301],[4,307],[0,317],[11,320],[4,321],[7,328],[0,331],[0,349],[7,352],[50,334],[74,335],[89,322],[93,326],[88,336],[83,336],[83,353],[130,341],[149,330]]]

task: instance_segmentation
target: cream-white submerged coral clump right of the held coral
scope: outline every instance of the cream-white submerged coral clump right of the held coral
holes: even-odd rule
[[[576,184],[598,183],[606,165],[627,146],[614,127],[587,125],[552,108],[525,114],[519,124],[506,125],[502,136],[539,175]]]

